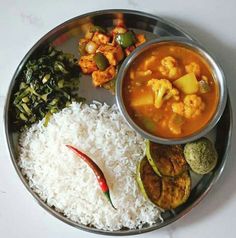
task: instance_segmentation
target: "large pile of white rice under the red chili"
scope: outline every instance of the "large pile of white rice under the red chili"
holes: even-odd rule
[[[144,140],[124,121],[117,107],[81,105],[56,113],[47,127],[34,124],[20,137],[19,165],[30,187],[49,206],[71,220],[103,230],[141,228],[160,219],[136,183]],[[89,155],[108,181],[113,209],[88,165],[65,145]]]

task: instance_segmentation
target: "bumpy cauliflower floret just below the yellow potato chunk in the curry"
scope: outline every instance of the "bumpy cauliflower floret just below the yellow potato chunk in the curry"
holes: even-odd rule
[[[183,102],[174,102],[172,104],[172,111],[187,119],[199,116],[205,109],[205,103],[201,97],[192,94],[187,95]]]

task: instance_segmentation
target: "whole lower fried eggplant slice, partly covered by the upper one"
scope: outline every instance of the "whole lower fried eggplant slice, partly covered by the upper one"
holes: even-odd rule
[[[160,177],[146,157],[137,167],[137,182],[145,198],[165,210],[174,209],[186,202],[191,190],[189,171],[177,177]]]

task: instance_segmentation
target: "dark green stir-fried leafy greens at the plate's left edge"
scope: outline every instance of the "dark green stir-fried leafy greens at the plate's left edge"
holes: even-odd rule
[[[44,117],[47,125],[52,113],[82,100],[75,94],[80,74],[76,61],[53,47],[28,61],[13,96],[16,126],[29,126]]]

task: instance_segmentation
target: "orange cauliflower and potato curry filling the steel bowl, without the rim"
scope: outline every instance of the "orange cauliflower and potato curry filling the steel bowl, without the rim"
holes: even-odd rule
[[[165,138],[184,137],[213,116],[218,86],[199,54],[177,44],[160,44],[143,52],[130,66],[123,100],[142,129]]]

